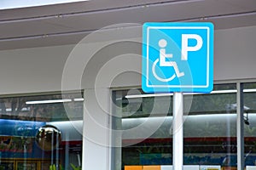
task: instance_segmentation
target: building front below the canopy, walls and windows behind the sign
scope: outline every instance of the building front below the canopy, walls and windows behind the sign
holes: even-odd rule
[[[255,31],[215,30],[213,92],[184,94],[184,169],[255,168]],[[143,93],[141,53],[141,24],[1,50],[0,168],[172,165],[172,94]]]

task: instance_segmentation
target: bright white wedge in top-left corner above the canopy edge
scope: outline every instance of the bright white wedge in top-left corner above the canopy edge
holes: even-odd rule
[[[27,8],[60,3],[75,3],[89,0],[1,0],[0,9]]]

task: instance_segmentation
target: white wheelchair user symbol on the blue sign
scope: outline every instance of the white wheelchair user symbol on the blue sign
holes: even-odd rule
[[[172,54],[166,54],[166,45],[167,42],[165,39],[160,39],[158,42],[158,45],[160,46],[160,59],[155,59],[154,64],[152,65],[152,71],[153,75],[156,79],[158,79],[160,82],[170,82],[175,77],[183,77],[184,72],[180,72],[177,67],[177,63],[175,61],[166,61],[166,58],[172,58]],[[160,66],[170,66],[174,68],[175,73],[173,73],[172,77],[169,78],[161,78],[159,77],[155,72],[155,66],[156,64],[160,62]]]

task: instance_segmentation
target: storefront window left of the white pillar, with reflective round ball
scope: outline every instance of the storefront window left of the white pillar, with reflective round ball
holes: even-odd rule
[[[0,98],[0,169],[81,167],[79,93]]]

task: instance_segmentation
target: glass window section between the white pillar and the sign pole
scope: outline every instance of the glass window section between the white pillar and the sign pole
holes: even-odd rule
[[[137,95],[142,94],[142,95]],[[172,164],[172,95],[143,96],[140,90],[115,91],[113,169]],[[117,141],[119,140],[119,141]]]

